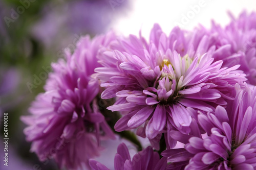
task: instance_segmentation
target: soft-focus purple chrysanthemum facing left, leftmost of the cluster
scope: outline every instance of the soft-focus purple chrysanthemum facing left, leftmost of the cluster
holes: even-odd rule
[[[98,49],[114,39],[113,33],[83,37],[67,61],[52,64],[46,92],[32,103],[32,115],[22,117],[31,151],[41,161],[53,157],[59,166],[77,169],[99,156],[100,140],[115,138],[98,107],[99,81],[92,78]]]

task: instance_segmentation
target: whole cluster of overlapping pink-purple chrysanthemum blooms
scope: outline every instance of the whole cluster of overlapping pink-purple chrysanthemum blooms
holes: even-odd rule
[[[114,128],[139,151],[131,158],[121,143],[116,170],[256,169],[255,16],[168,36],[156,24],[148,41],[81,38],[22,117],[31,151],[60,167],[107,170],[94,158]]]

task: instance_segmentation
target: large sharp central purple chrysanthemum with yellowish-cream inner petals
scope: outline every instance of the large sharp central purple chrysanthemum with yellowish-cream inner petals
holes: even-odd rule
[[[213,62],[215,47],[206,50],[206,42],[204,38],[194,46],[180,29],[167,37],[155,25],[150,43],[131,35],[113,43],[114,51],[104,49],[99,54],[103,67],[95,71],[106,88],[102,99],[118,98],[108,109],[124,114],[115,129],[144,124],[139,133],[151,139],[173,128],[189,133],[192,119],[187,107],[209,112],[225,106],[245,75],[236,70],[239,66],[221,68],[222,61]],[[175,144],[168,142],[171,147]]]

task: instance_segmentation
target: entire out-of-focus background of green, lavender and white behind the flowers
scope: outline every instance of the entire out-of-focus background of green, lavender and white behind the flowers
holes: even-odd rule
[[[66,47],[74,50],[79,37],[112,29],[124,36],[141,30],[147,38],[155,22],[166,34],[177,25],[209,28],[211,19],[225,26],[230,21],[227,11],[238,16],[243,10],[256,11],[256,1],[0,0],[0,169],[58,169],[53,161],[39,162],[29,152],[19,117],[29,114],[30,103],[44,91],[51,62],[63,58]],[[2,160],[5,112],[8,167]],[[117,144],[106,145],[103,156],[114,155]]]

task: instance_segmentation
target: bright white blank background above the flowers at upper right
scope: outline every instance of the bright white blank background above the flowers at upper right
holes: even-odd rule
[[[228,10],[234,16],[238,16],[243,10],[256,11],[255,0],[132,0],[129,13],[125,17],[116,19],[111,27],[125,36],[129,34],[138,35],[141,29],[142,35],[147,38],[154,23],[157,22],[168,35],[170,30],[175,27],[175,22],[181,23],[182,16],[187,16],[191,11],[193,12],[191,6],[199,5],[200,1],[204,2],[204,7],[200,7],[197,14],[194,12],[195,16],[189,19],[183,29],[192,30],[199,23],[209,28],[211,19],[224,26],[230,21],[227,14]]]

